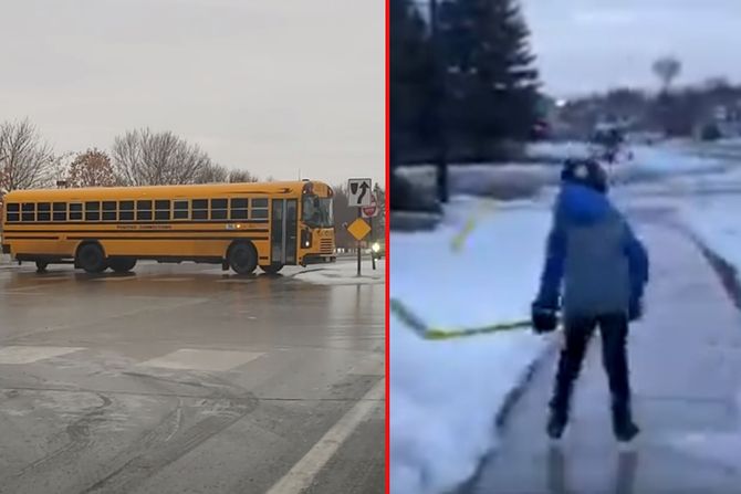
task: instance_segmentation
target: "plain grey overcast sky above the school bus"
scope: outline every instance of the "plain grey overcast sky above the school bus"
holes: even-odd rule
[[[261,177],[385,182],[380,0],[0,0],[0,120],[149,126]]]

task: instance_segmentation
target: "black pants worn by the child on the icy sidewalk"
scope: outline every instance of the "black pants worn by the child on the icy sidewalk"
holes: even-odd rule
[[[597,317],[572,317],[565,322],[565,345],[561,350],[559,369],[553,387],[551,409],[567,420],[574,381],[578,377],[589,338],[599,326],[602,333],[602,361],[607,372],[612,395],[613,423],[616,428],[630,419],[630,383],[626,340],[628,320],[623,314]]]

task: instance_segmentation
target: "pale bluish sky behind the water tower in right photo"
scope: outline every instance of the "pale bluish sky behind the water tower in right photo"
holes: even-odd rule
[[[545,88],[657,87],[651,62],[675,54],[678,83],[741,83],[741,0],[522,0]]]

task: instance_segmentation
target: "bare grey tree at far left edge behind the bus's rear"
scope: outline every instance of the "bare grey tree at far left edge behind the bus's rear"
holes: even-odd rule
[[[0,187],[32,189],[51,185],[54,155],[30,120],[0,124]]]

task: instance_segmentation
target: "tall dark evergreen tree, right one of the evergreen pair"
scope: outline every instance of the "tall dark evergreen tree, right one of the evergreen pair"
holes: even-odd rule
[[[479,155],[502,138],[524,139],[536,120],[538,72],[515,0],[449,0],[440,12],[448,128]],[[480,156],[486,158],[486,156]]]

